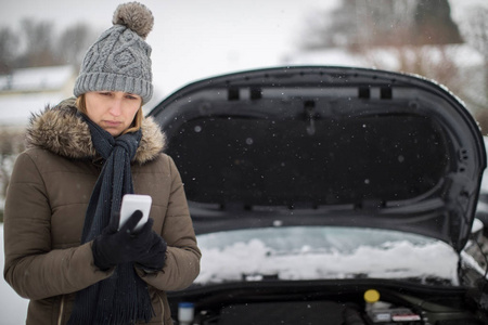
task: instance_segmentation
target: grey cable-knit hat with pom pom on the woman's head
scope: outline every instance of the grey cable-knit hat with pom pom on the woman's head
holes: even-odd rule
[[[153,28],[153,14],[139,2],[124,3],[117,6],[112,23],[85,55],[74,94],[123,91],[147,103],[153,95],[153,75],[145,38]]]

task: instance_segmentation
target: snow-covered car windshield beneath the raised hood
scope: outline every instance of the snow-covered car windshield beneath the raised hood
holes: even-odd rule
[[[196,284],[395,278],[458,285],[455,251],[446,243],[414,234],[290,226],[218,232],[197,239],[203,257]]]

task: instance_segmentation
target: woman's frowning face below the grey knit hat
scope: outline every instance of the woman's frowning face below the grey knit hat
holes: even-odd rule
[[[85,94],[85,103],[88,117],[113,136],[117,136],[131,126],[142,99],[121,91],[91,91]]]

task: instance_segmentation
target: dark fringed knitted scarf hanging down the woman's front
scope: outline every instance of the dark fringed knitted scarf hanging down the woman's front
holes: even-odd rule
[[[87,116],[93,146],[105,164],[88,205],[81,244],[92,240],[110,222],[118,222],[121,197],[133,193],[130,161],[141,140],[141,131],[113,138]],[[133,324],[151,320],[153,309],[146,284],[137,275],[132,263],[119,264],[114,274],[76,295],[68,321],[70,325]]]

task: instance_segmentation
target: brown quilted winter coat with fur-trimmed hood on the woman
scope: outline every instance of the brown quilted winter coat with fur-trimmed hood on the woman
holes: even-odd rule
[[[137,194],[153,198],[153,229],[167,242],[164,269],[144,273],[155,316],[171,324],[166,290],[188,287],[200,272],[201,252],[180,174],[162,153],[164,134],[145,118],[132,161]],[[80,245],[90,195],[103,166],[74,100],[33,117],[28,148],[15,161],[4,210],[5,281],[30,299],[27,324],[65,324],[76,291],[110,277],[93,264],[92,242]]]

